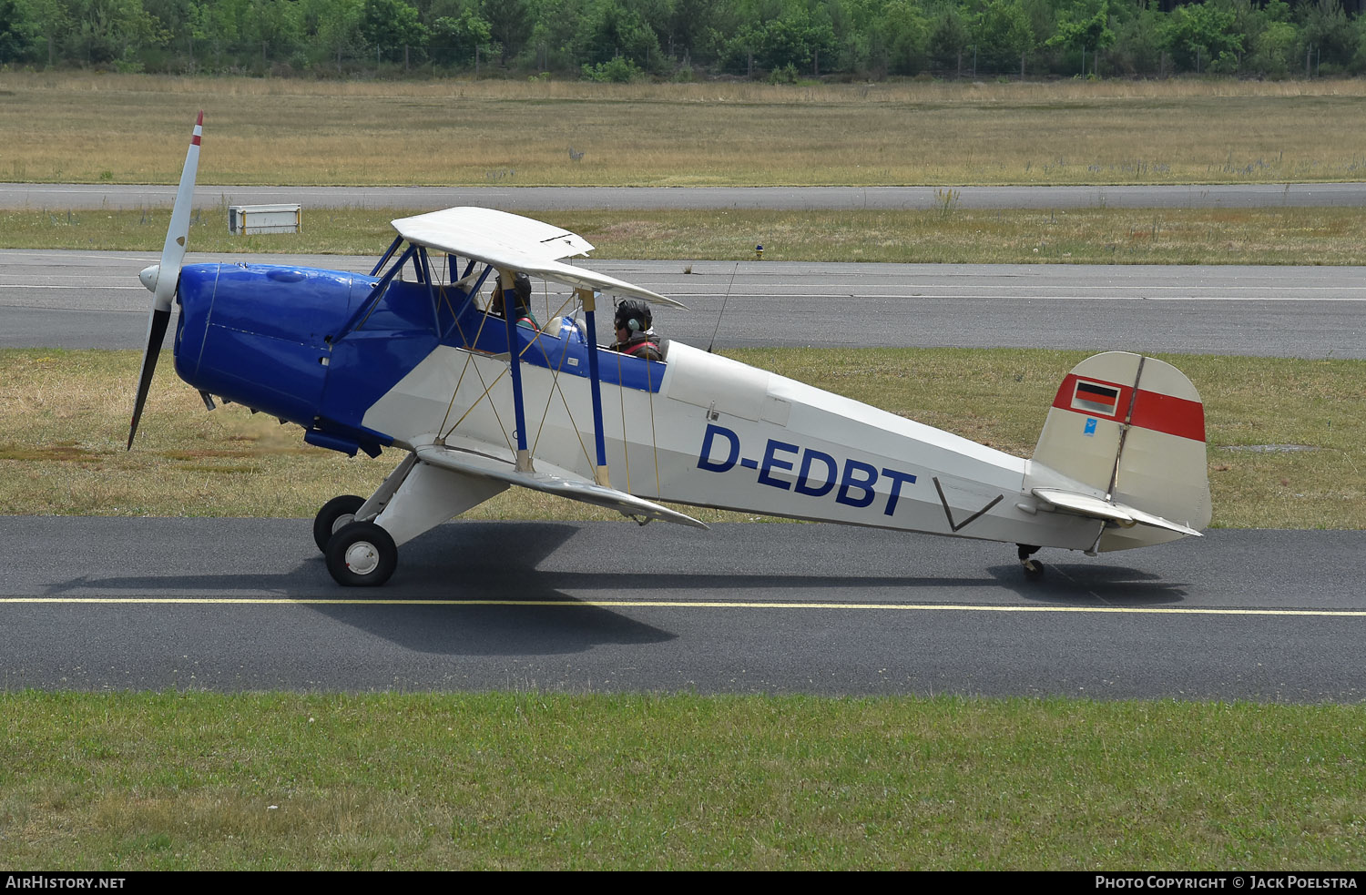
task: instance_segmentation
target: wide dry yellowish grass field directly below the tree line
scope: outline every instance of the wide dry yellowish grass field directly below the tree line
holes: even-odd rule
[[[1366,82],[325,83],[0,74],[0,179],[974,184],[1355,180]],[[582,152],[581,161],[570,149]]]

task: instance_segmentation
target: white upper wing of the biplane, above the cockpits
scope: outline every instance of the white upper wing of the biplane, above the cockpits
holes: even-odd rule
[[[560,258],[587,254],[593,250],[593,245],[563,227],[520,215],[492,208],[448,208],[443,212],[400,217],[393,221],[393,228],[411,243],[484,261],[496,268],[522,271],[545,280],[608,295],[643,298],[671,307],[687,307],[672,298],[613,276],[563,264]]]

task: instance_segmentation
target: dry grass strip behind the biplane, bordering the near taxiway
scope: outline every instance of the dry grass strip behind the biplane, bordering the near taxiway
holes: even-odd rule
[[[1034,448],[1057,384],[1086,357],[1004,348],[727,354],[1022,456]],[[1366,365],[1168,359],[1205,399],[1214,526],[1366,527]],[[392,452],[347,459],[305,445],[298,426],[242,407],[206,413],[169,359],[157,369],[138,444],[126,451],[138,363],[135,351],[0,351],[0,512],[311,517],[337,493],[370,493],[398,462]],[[1284,444],[1311,450],[1250,450]],[[751,518],[687,512],[706,522]],[[622,517],[512,489],[466,518]]]

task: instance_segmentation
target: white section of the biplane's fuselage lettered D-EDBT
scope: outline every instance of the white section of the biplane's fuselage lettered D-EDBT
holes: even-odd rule
[[[619,355],[600,351],[600,363]],[[507,358],[441,346],[363,424],[400,447],[474,440],[511,458]],[[672,343],[658,391],[604,383],[613,488],[846,525],[1086,549],[1101,525],[1041,511],[1029,460],[738,361]],[[589,380],[520,366],[533,458],[593,478]],[[454,399],[452,399],[454,396]]]

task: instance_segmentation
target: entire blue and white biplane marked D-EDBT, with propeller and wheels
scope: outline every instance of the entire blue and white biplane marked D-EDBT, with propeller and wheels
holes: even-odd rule
[[[1003,541],[1027,575],[1041,547],[1094,556],[1210,519],[1199,395],[1154,358],[1082,361],[1022,459],[679,342],[663,359],[609,350],[604,297],[678,302],[567,264],[593,246],[516,215],[395,220],[369,276],[183,265],[202,122],[161,262],[141,273],[153,299],[128,447],[178,302],[175,369],[210,410],[269,413],[348,455],[406,452],[373,495],[314,519],[342,585],[384,583],[404,542],[511,485],[641,523],[705,527],[664,500]],[[568,294],[544,325],[512,313],[519,275]]]

